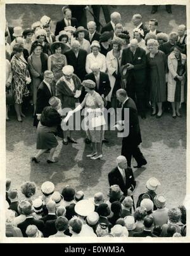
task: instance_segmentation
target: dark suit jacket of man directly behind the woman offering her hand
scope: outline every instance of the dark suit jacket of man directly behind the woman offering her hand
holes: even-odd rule
[[[96,78],[92,72],[90,74],[85,75],[85,79],[91,79],[96,83]],[[104,94],[106,97],[110,92],[110,90],[111,90],[111,86],[110,86],[110,79],[108,77],[108,74],[106,74],[105,72],[100,72],[99,88],[97,87],[97,84],[96,84],[95,91],[97,91],[99,95]]]

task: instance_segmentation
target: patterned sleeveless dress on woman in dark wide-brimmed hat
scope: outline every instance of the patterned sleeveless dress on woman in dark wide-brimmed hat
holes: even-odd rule
[[[53,72],[54,79],[57,82],[61,76],[63,76],[62,69],[66,65],[66,57],[61,54],[61,57],[51,55],[49,58],[51,58],[51,71]]]

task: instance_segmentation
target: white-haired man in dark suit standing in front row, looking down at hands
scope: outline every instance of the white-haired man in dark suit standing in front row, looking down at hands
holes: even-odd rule
[[[121,66],[127,69],[127,95],[136,102],[141,118],[145,119],[146,51],[138,47],[137,39],[130,40],[130,47],[123,50]]]

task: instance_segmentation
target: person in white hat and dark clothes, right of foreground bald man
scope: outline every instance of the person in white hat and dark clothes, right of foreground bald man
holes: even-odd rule
[[[160,182],[159,182],[158,179],[156,179],[155,177],[151,177],[150,179],[148,179],[147,182],[146,182],[146,188],[148,189],[148,191],[139,195],[139,198],[137,199],[137,207],[139,207],[141,205],[141,201],[144,198],[149,198],[154,203],[154,198],[156,196],[155,191],[158,187],[160,187]],[[157,209],[157,207],[154,204],[154,210],[156,210],[156,209]]]

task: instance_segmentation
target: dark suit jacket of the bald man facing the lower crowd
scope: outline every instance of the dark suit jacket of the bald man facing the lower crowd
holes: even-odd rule
[[[115,184],[118,185],[121,191],[124,192],[124,196],[127,196],[128,189],[133,191],[136,187],[136,180],[134,179],[132,168],[130,167],[127,167],[125,169],[125,183],[122,174],[117,167],[115,167],[113,170],[111,170],[110,173],[108,173],[108,181],[110,186]]]

